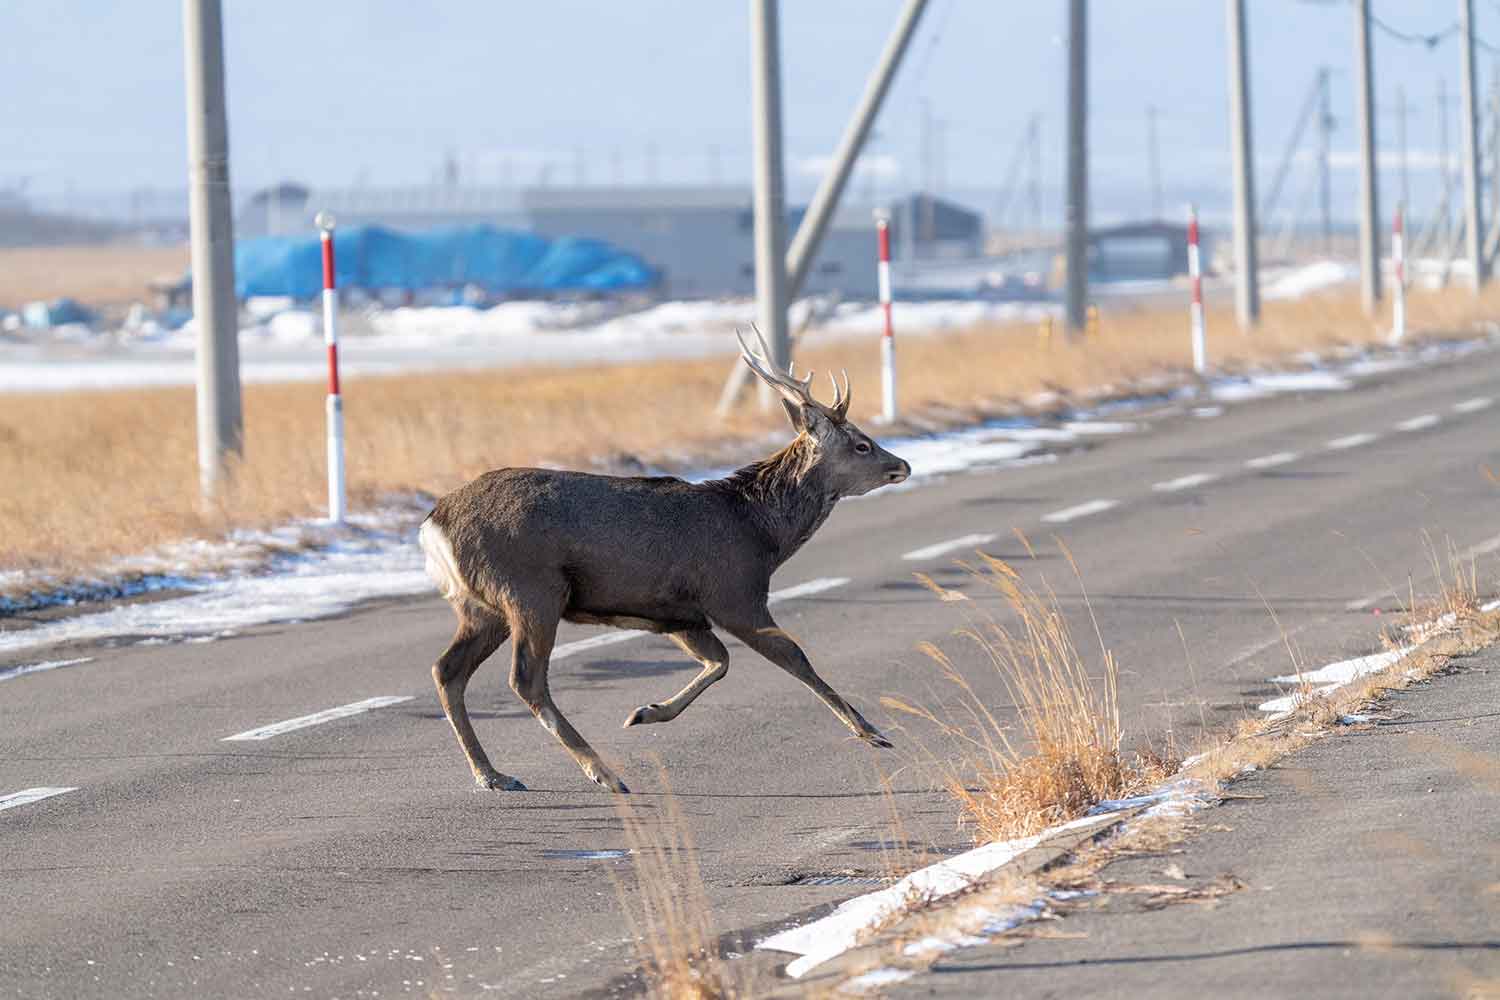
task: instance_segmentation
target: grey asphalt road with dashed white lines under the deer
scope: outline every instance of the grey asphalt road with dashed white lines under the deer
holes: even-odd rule
[[[945,694],[915,645],[963,652],[951,631],[993,606],[952,567],[976,543],[908,553],[993,535],[980,547],[1054,586],[1088,648],[1056,535],[1120,663],[1132,738],[1170,729],[1191,744],[1203,723],[1274,693],[1264,679],[1288,667],[1282,633],[1308,666],[1368,652],[1374,612],[1400,606],[1408,576],[1431,589],[1434,549],[1496,537],[1494,364],[1482,352],[1358,391],[1156,414],[1054,463],[846,502],[774,586],[848,583],[784,601],[778,619],[882,726],[879,696]],[[914,571],[975,600],[940,603]],[[626,972],[616,882],[630,862],[615,856],[614,801],[506,688],[504,651],[470,705],[490,759],[532,790],[472,787],[429,676],[450,633],[434,597],[213,643],[69,649],[94,660],[3,682],[0,796],[76,790],[0,810],[0,996],[542,997]],[[566,625],[560,643],[596,633]],[[680,720],[630,730],[628,712],[696,664],[638,637],[552,669],[558,705],[648,819],[662,813],[664,768],[720,928],[858,892],[786,883],[878,874],[891,802],[914,835],[963,843],[952,805],[910,766],[918,732],[890,732],[896,751],[858,744],[795,681],[729,649],[729,676]],[[982,666],[962,661],[1004,708]],[[382,696],[410,700],[224,739]],[[896,772],[894,795],[882,772]]]

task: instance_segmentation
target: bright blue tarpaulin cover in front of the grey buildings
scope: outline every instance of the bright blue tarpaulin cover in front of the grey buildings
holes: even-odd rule
[[[312,298],[322,289],[318,237],[261,237],[234,247],[240,298]],[[350,226],[333,234],[339,288],[426,291],[474,285],[498,295],[633,291],[651,288],[657,271],[634,253],[602,240],[546,240],[495,226],[396,232]]]

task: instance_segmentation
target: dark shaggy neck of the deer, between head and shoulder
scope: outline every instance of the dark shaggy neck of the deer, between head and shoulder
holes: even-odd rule
[[[824,474],[820,457],[818,444],[801,433],[770,459],[720,480],[746,501],[771,541],[777,565],[813,537],[838,502],[838,490]]]

